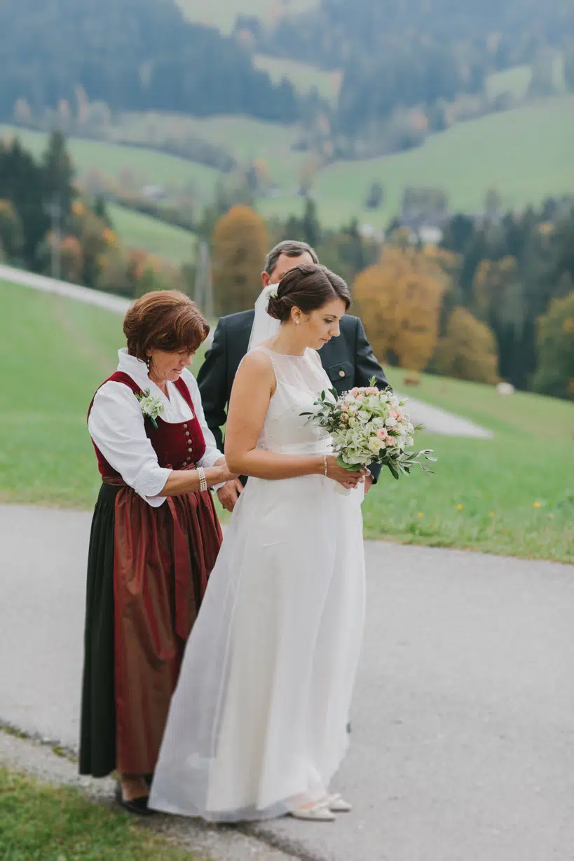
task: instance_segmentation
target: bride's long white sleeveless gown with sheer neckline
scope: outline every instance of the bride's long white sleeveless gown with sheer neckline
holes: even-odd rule
[[[315,351],[257,349],[277,378],[258,447],[328,451],[301,416],[330,387]],[[256,820],[328,790],[362,640],[362,493],[341,494],[322,475],[247,482],[188,641],[153,808]]]

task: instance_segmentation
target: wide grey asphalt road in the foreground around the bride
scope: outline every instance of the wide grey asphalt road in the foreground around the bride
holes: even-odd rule
[[[76,746],[90,515],[0,506],[0,719]],[[574,859],[574,567],[367,545],[353,814],[259,827],[318,861]]]

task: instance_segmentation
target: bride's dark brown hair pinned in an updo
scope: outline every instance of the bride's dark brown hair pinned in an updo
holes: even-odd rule
[[[267,313],[286,323],[292,308],[309,314],[334,299],[342,299],[346,311],[351,307],[351,294],[343,279],[320,263],[301,263],[281,279],[277,295],[269,297]]]

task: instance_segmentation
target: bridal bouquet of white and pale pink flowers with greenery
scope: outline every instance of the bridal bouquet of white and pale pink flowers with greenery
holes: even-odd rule
[[[341,395],[335,389],[322,392],[321,399],[315,401],[316,411],[302,415],[309,416],[309,421],[332,437],[340,467],[357,470],[380,463],[388,467],[396,479],[401,474],[409,474],[414,466],[432,472],[421,458],[436,461],[433,449],[405,451],[413,444],[413,435],[422,430],[422,425],[415,427],[411,423],[404,400],[391,392],[380,391],[374,383],[373,378],[370,386],[353,388]]]

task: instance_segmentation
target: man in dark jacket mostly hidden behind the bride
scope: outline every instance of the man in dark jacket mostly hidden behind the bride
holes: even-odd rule
[[[265,259],[265,270],[261,273],[264,288],[269,284],[278,284],[290,269],[300,263],[319,263],[310,245],[289,239],[280,242]],[[253,309],[221,317],[215,328],[211,349],[197,375],[203,412],[221,450],[221,428],[226,422],[226,409],[235,373],[247,352],[253,317]],[[375,377],[379,388],[389,385],[358,317],[348,314],[342,317],[339,338],[332,338],[325,344],[319,356],[333,387],[339,393],[348,392],[354,386],[368,386],[371,377]],[[380,471],[380,467],[371,467],[371,476],[365,482],[366,491],[373,481],[377,481]],[[233,511],[242,487],[240,480],[234,480],[228,481],[217,491],[221,505],[228,511]]]

